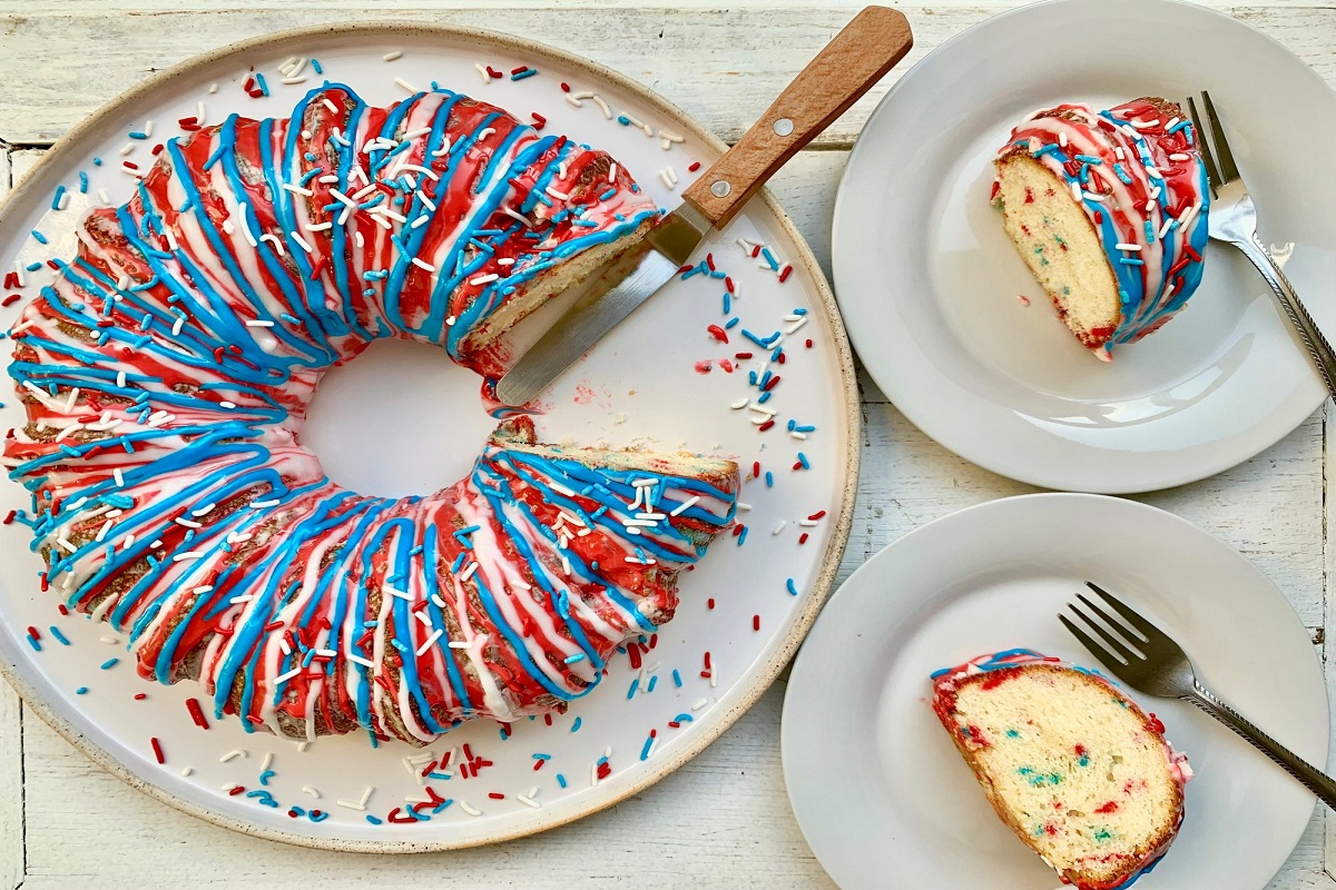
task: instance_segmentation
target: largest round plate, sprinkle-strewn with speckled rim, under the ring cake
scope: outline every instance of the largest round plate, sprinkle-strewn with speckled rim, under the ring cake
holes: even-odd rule
[[[394,53],[402,56],[385,60]],[[278,68],[291,71],[285,63],[298,59],[306,61],[295,77],[305,83],[282,83]],[[504,76],[484,83],[478,64]],[[528,67],[537,73],[524,73]],[[246,92],[251,71],[266,77],[267,97]],[[549,131],[608,149],[665,207],[676,204],[676,189],[660,171],[671,167],[688,183],[695,164],[708,165],[721,151],[697,124],[628,79],[536,44],[432,27],[294,32],[187,63],[79,127],[5,205],[3,264],[8,268],[16,255],[24,267],[71,256],[83,211],[131,195],[134,179],[122,161],[147,168],[154,144],[178,135],[176,121],[194,117],[196,103],[203,103],[206,124],[232,112],[287,116],[323,77],[351,85],[370,104],[407,96],[403,84],[426,88],[436,81],[525,117],[537,112]],[[596,93],[599,101],[566,100],[580,93]],[[619,116],[644,121],[655,136]],[[150,120],[147,139],[127,135],[146,133]],[[667,140],[660,128],[681,141]],[[87,191],[80,173],[88,177]],[[68,195],[61,211],[52,209],[60,203],[53,201],[57,185]],[[48,244],[29,236],[32,230]],[[792,272],[782,282],[737,239],[767,244],[780,270],[791,263]],[[425,750],[399,743],[373,750],[362,735],[322,738],[301,750],[247,734],[234,718],[211,719],[206,731],[186,707],[187,698],[200,694],[198,685],[162,687],[139,679],[120,635],[57,614],[57,596],[39,590],[41,562],[28,551],[20,523],[0,530],[5,675],[39,714],[132,785],[195,815],[285,841],[381,851],[486,843],[568,822],[647,787],[727,729],[792,655],[834,578],[856,480],[851,355],[800,236],[771,200],[759,199],[725,234],[708,239],[701,259],[707,252],[739,291],[731,315],[724,314],[723,280],[701,274],[671,283],[544,396],[538,428],[556,442],[736,455],[748,476],[741,500],[749,508],[740,522],[749,534],[717,540],[697,571],[684,575],[677,616],[651,640],[653,648],[635,663],[616,659],[604,689],[568,714],[513,726],[509,737],[494,723],[474,722]],[[49,278],[37,266],[20,292],[31,296]],[[20,306],[0,308],[0,323],[11,324]],[[739,324],[725,346],[707,327],[731,318]],[[768,358],[741,335],[744,328],[762,338],[787,335],[783,383],[768,403],[778,423],[767,430],[751,422],[755,412],[729,407],[747,395],[748,371]],[[756,358],[739,359],[737,352]],[[8,402],[0,428],[23,423],[21,406],[0,400]],[[786,430],[790,422],[812,430],[795,438]],[[381,343],[326,378],[303,439],[337,482],[402,495],[461,478],[493,423],[472,374],[429,347]],[[767,474],[774,474],[772,484]],[[17,484],[0,484],[0,515],[27,506]],[[39,634],[36,646],[27,639],[29,627]],[[147,697],[135,698],[140,693]],[[158,739],[162,765],[151,739]],[[492,765],[449,779],[430,769],[452,750],[458,763],[464,746]],[[600,779],[604,758],[612,771]],[[238,786],[243,790],[232,793]],[[425,786],[454,805],[432,803],[420,809],[418,821],[405,821],[411,802],[430,799]]]

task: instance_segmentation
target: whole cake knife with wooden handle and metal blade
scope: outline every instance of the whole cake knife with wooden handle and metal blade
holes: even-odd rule
[[[867,7],[826,44],[732,148],[681,195],[681,205],[625,247],[574,306],[497,383],[525,404],[687,264],[784,163],[895,67],[914,45],[895,9]]]

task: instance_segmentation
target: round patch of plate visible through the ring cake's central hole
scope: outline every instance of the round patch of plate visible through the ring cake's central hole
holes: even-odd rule
[[[432,494],[464,478],[497,426],[481,386],[438,347],[377,340],[325,375],[301,442],[357,492]]]

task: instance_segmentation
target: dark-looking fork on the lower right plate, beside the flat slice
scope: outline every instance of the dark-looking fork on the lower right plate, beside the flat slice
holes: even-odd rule
[[[1077,627],[1066,615],[1058,615],[1069,631],[1071,631],[1090,652],[1104,662],[1109,671],[1134,690],[1146,695],[1160,698],[1178,698],[1190,702],[1210,714],[1213,718],[1232,729],[1244,739],[1252,743],[1259,751],[1275,761],[1281,769],[1303,782],[1304,787],[1316,794],[1321,801],[1336,809],[1336,781],[1324,774],[1316,766],[1303,759],[1284,745],[1267,735],[1242,714],[1221,702],[1209,693],[1198,681],[1197,673],[1178,643],[1173,642],[1168,634],[1138,615],[1130,606],[1122,603],[1116,596],[1105,591],[1098,584],[1086,582],[1086,586],[1100,594],[1105,603],[1116,611],[1122,620],[1114,618],[1105,610],[1086,599],[1085,594],[1077,594],[1077,599],[1085,603],[1086,608],[1113,630],[1126,638],[1126,643],[1110,634],[1102,624],[1082,612],[1074,603],[1067,603],[1067,608],[1075,612],[1108,646],[1096,642],[1089,634]],[[1128,644],[1130,643],[1130,646]]]

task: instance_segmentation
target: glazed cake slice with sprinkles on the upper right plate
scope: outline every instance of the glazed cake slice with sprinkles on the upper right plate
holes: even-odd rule
[[[1100,358],[1161,327],[1201,283],[1210,189],[1174,103],[1038,111],[995,167],[1006,234]]]

